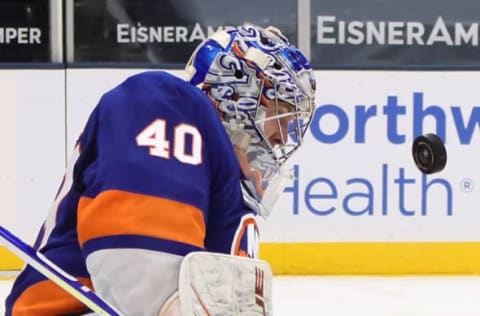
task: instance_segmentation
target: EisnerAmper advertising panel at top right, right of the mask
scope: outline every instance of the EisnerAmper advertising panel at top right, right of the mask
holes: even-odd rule
[[[480,68],[480,2],[311,2],[311,56],[318,68]]]

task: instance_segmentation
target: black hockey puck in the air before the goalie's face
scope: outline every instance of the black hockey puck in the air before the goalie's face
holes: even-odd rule
[[[447,150],[436,134],[418,136],[412,145],[413,160],[424,174],[442,171],[447,164]]]

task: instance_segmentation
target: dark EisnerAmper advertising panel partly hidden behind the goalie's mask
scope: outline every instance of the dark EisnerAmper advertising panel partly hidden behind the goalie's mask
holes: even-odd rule
[[[275,25],[296,43],[296,0],[75,0],[69,62],[181,65],[221,28]]]

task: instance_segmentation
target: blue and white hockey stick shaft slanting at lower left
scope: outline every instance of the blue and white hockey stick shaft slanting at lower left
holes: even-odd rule
[[[122,316],[114,307],[92,292],[87,286],[80,283],[75,277],[66,273],[43,254],[35,251],[2,226],[0,226],[0,242],[95,313],[99,315]]]

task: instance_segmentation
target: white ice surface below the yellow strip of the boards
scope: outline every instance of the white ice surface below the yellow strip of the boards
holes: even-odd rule
[[[2,302],[11,284],[0,281]],[[273,308],[275,316],[479,316],[480,277],[277,276]]]

